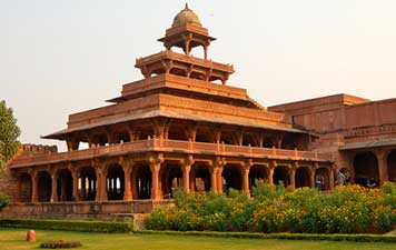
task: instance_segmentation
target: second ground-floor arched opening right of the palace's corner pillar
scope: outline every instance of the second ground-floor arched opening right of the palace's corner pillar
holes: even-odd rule
[[[190,190],[197,192],[208,192],[211,188],[210,186],[210,171],[209,167],[205,164],[196,163],[190,172]]]

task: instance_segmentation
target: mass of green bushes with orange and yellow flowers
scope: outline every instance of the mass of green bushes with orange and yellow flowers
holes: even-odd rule
[[[385,183],[380,190],[338,187],[325,193],[260,182],[251,194],[180,192],[175,208],[155,210],[146,226],[156,230],[310,233],[380,233],[396,226],[395,183]]]

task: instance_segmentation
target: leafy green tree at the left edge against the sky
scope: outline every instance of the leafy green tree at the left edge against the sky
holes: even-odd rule
[[[0,169],[18,152],[18,137],[21,130],[17,126],[11,108],[6,101],[0,102]]]

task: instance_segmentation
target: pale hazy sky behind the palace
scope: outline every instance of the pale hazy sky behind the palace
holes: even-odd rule
[[[396,97],[395,0],[188,1],[218,38],[209,58],[264,106],[346,92]],[[162,50],[179,0],[0,0],[0,100],[21,141],[66,128],[141,79],[135,59]],[[195,51],[192,51],[195,54]],[[196,52],[198,56],[199,52]]]

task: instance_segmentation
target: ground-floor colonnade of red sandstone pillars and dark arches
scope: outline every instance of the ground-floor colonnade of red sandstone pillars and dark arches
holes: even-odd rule
[[[227,157],[111,157],[18,169],[18,202],[171,199],[178,190],[250,194],[257,181],[331,190],[331,163]]]

